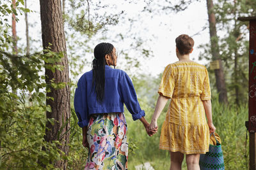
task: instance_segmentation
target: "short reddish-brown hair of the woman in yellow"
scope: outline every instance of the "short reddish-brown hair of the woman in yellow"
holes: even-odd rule
[[[191,52],[195,42],[187,34],[181,34],[175,39],[175,43],[180,55],[185,55]]]

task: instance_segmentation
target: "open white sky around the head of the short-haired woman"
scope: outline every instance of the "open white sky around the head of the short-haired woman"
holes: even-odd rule
[[[129,4],[129,9],[128,13],[136,15],[134,11],[140,13],[140,4]],[[175,53],[175,38],[180,34],[193,36],[200,32],[200,34],[193,36],[195,46],[193,53],[191,53],[191,59],[201,64],[207,63],[206,60],[198,60],[200,53],[198,46],[209,42],[209,29],[202,31],[204,26],[208,24],[206,3],[195,2],[187,10],[179,13],[145,18],[147,20],[143,24],[147,25],[148,35],[154,34],[156,37],[154,41],[148,42],[154,52],[154,57],[146,60],[143,64],[145,70],[149,71],[150,74],[157,75],[163,72],[167,64],[178,60]]]

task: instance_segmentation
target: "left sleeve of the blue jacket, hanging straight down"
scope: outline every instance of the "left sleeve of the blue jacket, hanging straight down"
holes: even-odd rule
[[[78,118],[79,127],[85,127],[88,125],[88,106],[86,97],[86,80],[80,80],[77,83],[77,89],[74,97],[74,108]]]

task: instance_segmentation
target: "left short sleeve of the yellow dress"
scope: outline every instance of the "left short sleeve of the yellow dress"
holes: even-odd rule
[[[166,97],[172,97],[175,86],[175,79],[172,66],[168,65],[164,69],[162,80],[158,89],[158,93]]]

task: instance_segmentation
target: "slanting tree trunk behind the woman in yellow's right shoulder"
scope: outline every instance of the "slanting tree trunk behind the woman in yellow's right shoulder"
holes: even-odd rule
[[[225,76],[223,73],[223,66],[220,60],[220,50],[218,46],[214,6],[212,3],[212,0],[206,0],[206,1],[207,1],[207,10],[208,10],[208,17],[209,17],[212,59],[219,60],[220,62],[220,69],[214,70],[215,78],[216,78],[216,86],[219,93],[219,101],[220,103],[227,104],[228,103],[227,89],[225,85]]]

